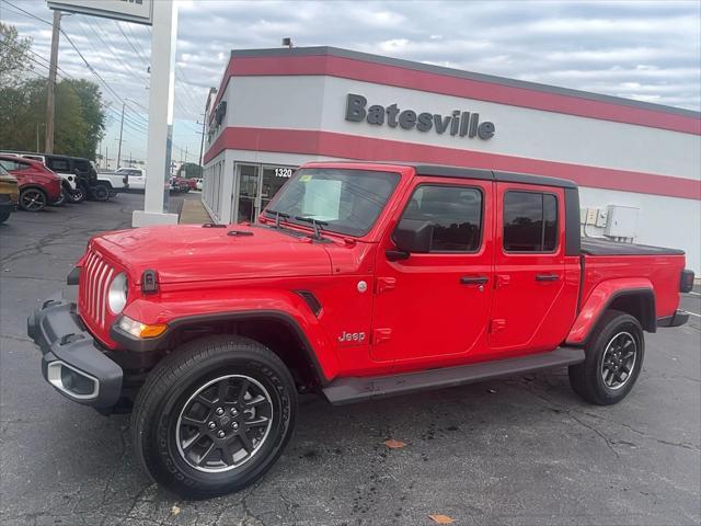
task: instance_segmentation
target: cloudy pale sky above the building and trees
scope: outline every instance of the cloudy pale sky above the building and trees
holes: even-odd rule
[[[154,0],[159,1],[159,0]],[[513,79],[701,110],[701,2],[177,0],[174,160],[197,162],[203,113],[231,49],[336,46]],[[24,12],[23,12],[24,11]],[[47,76],[45,0],[0,0],[0,21],[33,39]],[[103,153],[146,157],[150,27],[72,14],[61,27],[59,78],[104,82]],[[2,45],[2,44],[0,44]],[[97,77],[100,77],[99,80]],[[124,102],[126,100],[126,103]]]

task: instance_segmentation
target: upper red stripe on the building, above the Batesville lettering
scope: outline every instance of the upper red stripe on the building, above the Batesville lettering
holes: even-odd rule
[[[217,103],[223,95],[231,77],[297,75],[340,77],[512,106],[701,135],[701,118],[331,55],[233,57],[229,61],[217,94]]]

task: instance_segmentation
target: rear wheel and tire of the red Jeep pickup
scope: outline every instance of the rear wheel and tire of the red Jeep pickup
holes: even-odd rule
[[[570,366],[572,389],[598,405],[620,402],[643,367],[645,339],[640,322],[625,312],[607,311],[588,338],[585,354],[582,364]]]

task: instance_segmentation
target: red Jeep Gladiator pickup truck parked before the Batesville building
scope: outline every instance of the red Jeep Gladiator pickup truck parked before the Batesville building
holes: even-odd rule
[[[332,403],[568,366],[586,401],[633,388],[643,331],[685,323],[678,250],[579,238],[577,187],[490,170],[309,163],[256,224],[93,237],[78,300],[28,319],[44,378],[133,409],[136,457],[180,495],[240,490],[300,392]]]

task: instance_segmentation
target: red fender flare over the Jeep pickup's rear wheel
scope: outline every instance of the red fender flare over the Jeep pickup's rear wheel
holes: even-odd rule
[[[646,278],[620,278],[608,279],[599,283],[584,302],[577,318],[572,324],[565,343],[567,345],[583,345],[601,316],[617,299],[624,296],[644,296],[648,299],[647,312],[650,324],[644,327],[648,332],[657,329],[657,316],[655,311],[655,291],[653,284]]]

